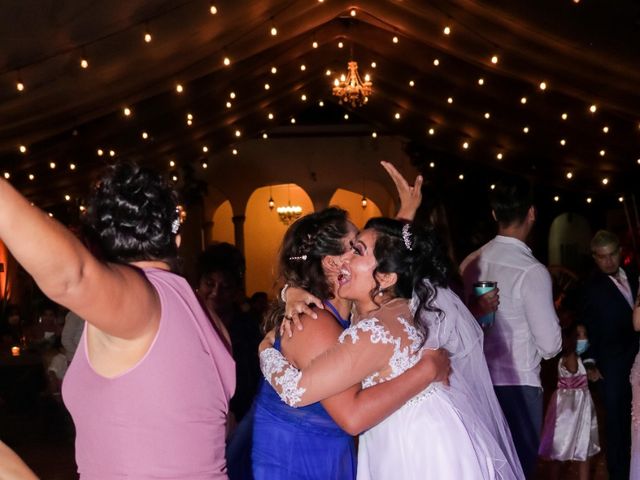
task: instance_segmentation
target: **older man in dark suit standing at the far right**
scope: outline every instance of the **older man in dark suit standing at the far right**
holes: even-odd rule
[[[585,365],[591,379],[601,379],[609,478],[626,480],[631,449],[629,373],[638,352],[632,322],[638,276],[620,266],[620,242],[611,232],[595,234],[591,255],[597,269],[584,287],[583,319],[591,342]]]

